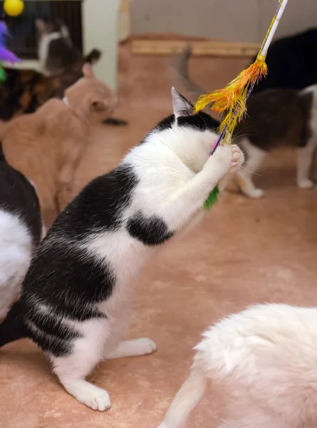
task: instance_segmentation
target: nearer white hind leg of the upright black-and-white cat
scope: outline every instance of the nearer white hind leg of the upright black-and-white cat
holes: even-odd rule
[[[66,355],[51,356],[53,372],[66,391],[80,403],[103,412],[111,404],[108,392],[87,382],[85,377],[103,358],[107,327],[100,320],[88,320],[83,324],[85,328],[80,329],[83,335],[73,341],[71,349],[64,352]]]

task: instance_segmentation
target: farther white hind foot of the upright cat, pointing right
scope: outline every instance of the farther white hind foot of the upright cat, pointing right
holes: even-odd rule
[[[123,340],[114,350],[104,353],[105,360],[115,360],[123,357],[140,357],[141,355],[152,354],[157,346],[155,342],[146,337],[135,340]]]

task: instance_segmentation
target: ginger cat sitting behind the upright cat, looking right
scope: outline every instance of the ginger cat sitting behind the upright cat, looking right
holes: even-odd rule
[[[4,129],[6,159],[36,185],[46,224],[71,200],[74,173],[91,125],[108,118],[116,103],[115,93],[85,63],[83,78],[66,89],[63,101],[51,99]]]

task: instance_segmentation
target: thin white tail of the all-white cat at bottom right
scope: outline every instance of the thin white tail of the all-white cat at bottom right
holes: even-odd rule
[[[164,421],[158,428],[182,428],[186,424],[189,413],[202,399],[207,387],[207,376],[199,365],[194,362],[186,381],[177,392]]]

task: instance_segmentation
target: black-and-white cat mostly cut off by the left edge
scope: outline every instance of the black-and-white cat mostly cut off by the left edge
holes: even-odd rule
[[[0,318],[19,291],[41,233],[36,190],[6,163],[0,144]]]

